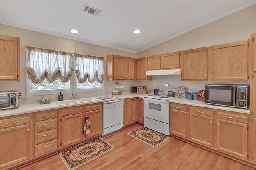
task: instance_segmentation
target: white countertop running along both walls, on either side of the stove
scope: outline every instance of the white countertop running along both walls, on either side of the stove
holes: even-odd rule
[[[11,115],[20,115],[20,114],[25,114],[25,113],[45,111],[45,110],[51,110],[51,109],[60,109],[60,108],[64,108],[64,107],[81,106],[81,105],[85,105],[85,104],[107,102],[107,101],[111,101],[111,100],[120,100],[120,99],[133,98],[133,97],[143,98],[144,95],[148,95],[148,94],[127,93],[127,94],[122,94],[122,95],[113,95],[116,98],[111,98],[111,99],[94,100],[94,101],[90,101],[90,102],[81,102],[81,103],[68,104],[68,105],[62,105],[62,106],[56,104],[56,102],[54,102],[54,101],[51,102],[50,104],[41,104],[41,105],[37,104],[37,103],[36,104],[35,103],[19,104],[19,107],[17,109],[1,110],[0,117],[6,117],[6,116],[11,116]],[[108,95],[108,96],[112,96],[112,95]],[[188,100],[185,98],[175,98],[175,99],[169,100],[169,102],[250,114],[250,109],[236,109],[236,108],[232,108],[232,107],[210,105],[210,104],[205,104],[204,102],[200,102],[197,100]]]

